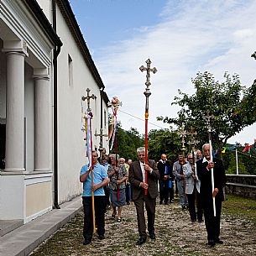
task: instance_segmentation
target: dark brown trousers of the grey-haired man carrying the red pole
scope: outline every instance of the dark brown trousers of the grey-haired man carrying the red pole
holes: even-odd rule
[[[149,195],[142,195],[134,201],[137,212],[138,233],[141,238],[147,237],[146,222],[144,216],[144,204],[148,215],[148,231],[149,234],[152,234],[154,233],[154,215],[156,200],[155,198],[151,198]]]

